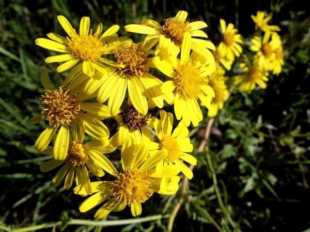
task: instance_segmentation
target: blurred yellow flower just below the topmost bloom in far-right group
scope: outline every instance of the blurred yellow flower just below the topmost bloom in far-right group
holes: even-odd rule
[[[253,44],[249,47],[251,51],[256,52],[254,56],[255,62],[265,70],[274,69],[274,59],[276,56],[273,52],[274,48],[272,47],[272,43],[270,42],[270,35],[269,32],[266,32],[263,36],[263,40],[255,36],[251,39]]]

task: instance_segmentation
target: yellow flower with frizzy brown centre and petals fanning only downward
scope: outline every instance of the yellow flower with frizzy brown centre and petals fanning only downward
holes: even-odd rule
[[[118,37],[114,37],[118,40]],[[108,109],[112,115],[119,110],[126,90],[133,106],[143,115],[147,114],[148,102],[152,100],[155,105],[162,108],[164,100],[172,103],[173,95],[163,95],[160,91],[162,81],[149,72],[152,58],[148,58],[149,49],[154,46],[150,41],[130,43],[115,53],[117,62],[123,66],[109,76],[98,91],[97,101],[108,101]]]

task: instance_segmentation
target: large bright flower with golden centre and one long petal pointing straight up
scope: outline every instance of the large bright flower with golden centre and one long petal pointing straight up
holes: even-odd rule
[[[171,77],[161,86],[164,94],[174,92],[174,112],[178,120],[184,119],[186,127],[190,122],[196,127],[202,120],[202,111],[197,102],[199,98],[207,108],[211,102],[207,96],[214,97],[214,90],[208,85],[208,75],[214,71],[215,66],[206,64],[205,58],[196,52],[190,55],[191,36],[184,35],[181,59],[174,58],[174,62],[168,62],[159,57],[153,58],[153,63],[158,70]],[[160,44],[159,44],[160,49]],[[172,59],[171,59],[172,60]]]

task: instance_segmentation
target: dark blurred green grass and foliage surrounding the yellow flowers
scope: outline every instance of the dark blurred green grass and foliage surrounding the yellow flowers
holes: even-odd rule
[[[229,221],[231,217],[242,231],[309,232],[310,12],[306,2],[0,0],[0,231],[21,228],[28,232],[33,229],[27,227],[59,221],[62,224],[56,231],[167,231],[168,216],[103,229],[89,225],[66,227],[71,218],[92,220],[95,211],[79,213],[78,205],[83,201],[80,196],[61,187],[49,187],[55,172],[40,172],[39,165],[49,158],[33,147],[45,124],[28,123],[41,109],[42,71],[48,69],[55,86],[65,76],[56,73],[56,64],[45,63],[45,58],[54,53],[34,44],[36,38],[47,38],[48,32],[65,35],[57,15],[67,17],[74,28],[78,28],[82,16],[90,16],[93,27],[100,22],[104,29],[118,24],[119,35],[138,42],[143,36],[125,32],[124,25],[139,24],[145,18],[162,24],[164,18],[186,10],[189,21],[203,20],[208,24],[206,32],[218,44],[220,18],[235,24],[247,39],[254,32],[250,15],[261,10],[272,14],[271,24],[281,28],[283,71],[269,80],[265,90],[254,90],[250,95],[233,93],[225,103],[208,142],[214,172],[206,152],[196,151],[209,120],[206,112],[197,128],[189,128],[195,147],[192,154],[198,165],[173,231],[237,230]],[[113,155],[109,158],[115,159]],[[216,195],[212,180],[215,174],[226,210],[222,210]],[[143,204],[140,217],[171,214],[183,197],[180,192],[173,196],[154,194]],[[107,219],[131,217],[126,208]]]

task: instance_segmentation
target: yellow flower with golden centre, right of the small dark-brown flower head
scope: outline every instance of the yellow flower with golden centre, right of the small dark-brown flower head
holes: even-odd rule
[[[184,164],[186,161],[190,164],[196,165],[197,160],[195,157],[187,154],[193,150],[193,145],[187,137],[188,129],[181,121],[172,132],[173,115],[164,110],[160,112],[160,119],[152,118],[152,124],[159,139],[158,143],[149,142],[151,154],[164,150],[166,156],[156,165],[156,172],[160,174],[163,167],[171,164],[176,164],[181,172],[186,175],[188,179],[193,177],[192,171]]]

